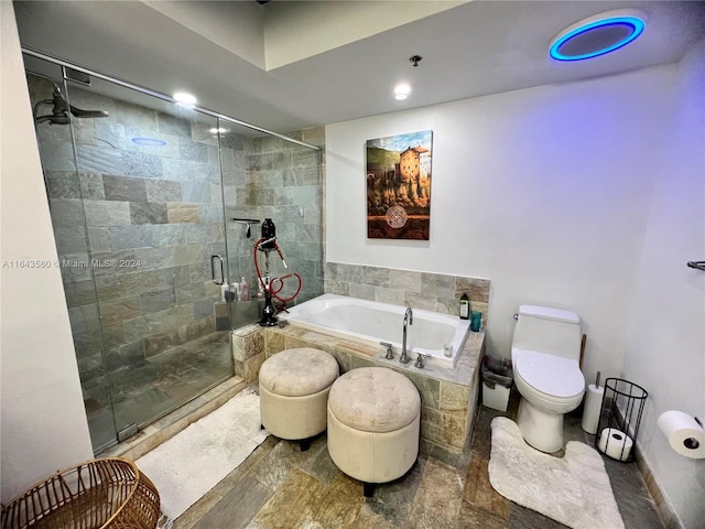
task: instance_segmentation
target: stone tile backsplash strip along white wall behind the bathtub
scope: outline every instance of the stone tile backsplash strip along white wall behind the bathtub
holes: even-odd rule
[[[458,314],[460,296],[466,293],[470,298],[473,310],[482,313],[482,325],[487,325],[490,289],[488,279],[341,262],[326,262],[324,272],[326,293],[442,314]]]

